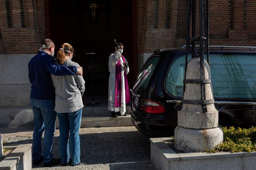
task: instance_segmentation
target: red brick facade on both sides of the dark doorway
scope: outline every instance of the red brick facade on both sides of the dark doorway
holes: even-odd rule
[[[185,44],[185,2],[137,0],[138,54]],[[256,46],[256,0],[209,4],[210,45]],[[44,0],[0,0],[0,53],[35,53],[45,29]]]

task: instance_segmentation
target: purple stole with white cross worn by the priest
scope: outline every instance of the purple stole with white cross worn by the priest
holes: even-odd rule
[[[123,62],[126,59],[122,55]],[[130,91],[128,85],[128,79],[126,71],[124,70],[124,89],[125,89],[125,102],[130,103]],[[116,63],[116,93],[115,93],[115,107],[121,107],[121,97],[122,97],[122,65],[120,59]]]

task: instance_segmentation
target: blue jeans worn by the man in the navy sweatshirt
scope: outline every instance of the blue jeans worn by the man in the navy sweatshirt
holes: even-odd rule
[[[44,132],[44,162],[52,160],[52,143],[55,132],[56,112],[54,100],[39,100],[30,98],[34,114],[33,159],[39,160],[42,154],[41,141]]]

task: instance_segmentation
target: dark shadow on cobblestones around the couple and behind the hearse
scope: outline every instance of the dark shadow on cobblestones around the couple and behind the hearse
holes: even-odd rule
[[[52,153],[55,158],[60,158],[59,140],[59,136],[54,137]],[[27,143],[32,143],[31,137],[26,140],[20,138],[6,145]],[[149,139],[138,131],[80,134],[80,150],[81,161],[88,164],[150,161]],[[39,167],[43,167],[43,163],[33,166]]]

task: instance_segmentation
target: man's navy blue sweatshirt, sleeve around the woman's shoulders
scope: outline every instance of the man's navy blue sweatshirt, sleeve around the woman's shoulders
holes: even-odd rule
[[[55,99],[53,75],[74,75],[76,66],[56,65],[55,58],[46,51],[38,51],[28,63],[28,77],[31,83],[30,98],[50,100]]]

